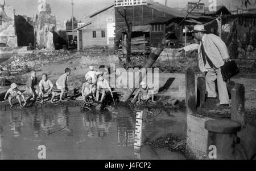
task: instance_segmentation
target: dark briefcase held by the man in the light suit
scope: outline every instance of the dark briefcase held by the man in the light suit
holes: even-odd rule
[[[237,75],[240,72],[235,61],[229,61],[221,66],[221,74],[224,82],[227,82],[228,79],[232,78],[232,76]]]

